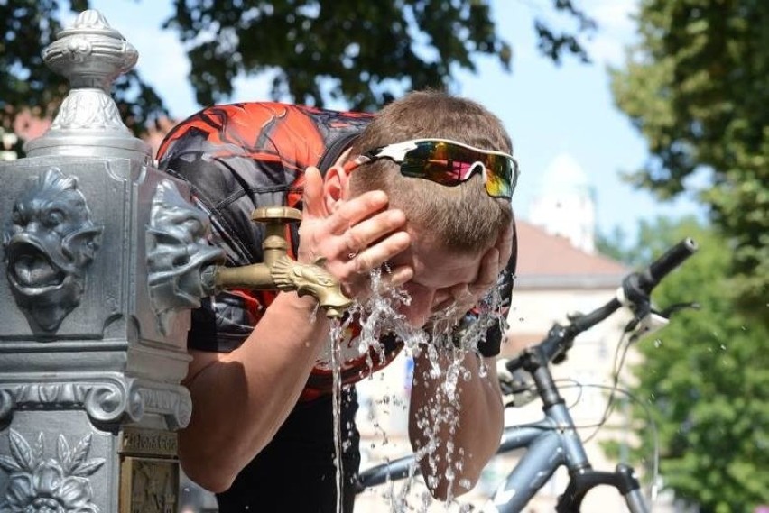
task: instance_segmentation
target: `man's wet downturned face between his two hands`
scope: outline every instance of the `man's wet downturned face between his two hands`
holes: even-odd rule
[[[473,283],[480,270],[483,252],[458,254],[432,237],[410,230],[412,246],[390,261],[392,266],[409,265],[413,278],[403,285],[412,301],[401,313],[413,327],[422,327],[431,315],[451,303],[450,289]]]

